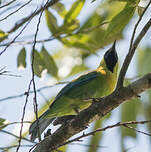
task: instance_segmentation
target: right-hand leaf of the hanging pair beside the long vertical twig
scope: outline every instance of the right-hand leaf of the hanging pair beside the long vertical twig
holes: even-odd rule
[[[47,52],[47,50],[44,47],[42,47],[40,54],[42,56],[45,67],[48,70],[48,73],[54,77],[57,77],[58,67],[53,57]]]

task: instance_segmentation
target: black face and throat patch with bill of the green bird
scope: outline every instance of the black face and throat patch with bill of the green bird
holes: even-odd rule
[[[118,61],[118,56],[115,50],[115,42],[105,54],[104,54],[104,60],[106,63],[107,68],[113,73],[113,69]]]

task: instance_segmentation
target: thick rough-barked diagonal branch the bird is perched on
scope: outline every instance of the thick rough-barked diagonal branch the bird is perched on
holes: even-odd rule
[[[151,73],[126,87],[116,89],[111,95],[100,99],[100,101],[92,104],[89,108],[81,111],[69,123],[63,124],[56,132],[38,143],[33,151],[50,152],[55,150],[63,145],[71,136],[85,130],[93,120],[102,118],[120,104],[136,98],[138,94],[149,88],[151,88]]]

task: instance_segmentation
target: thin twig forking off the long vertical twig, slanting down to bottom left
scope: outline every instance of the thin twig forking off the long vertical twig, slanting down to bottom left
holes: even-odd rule
[[[19,141],[18,141],[18,147],[16,149],[16,152],[18,152],[19,148],[20,148],[20,144],[21,144],[21,140],[22,140],[22,130],[23,130],[23,122],[24,122],[24,116],[25,116],[25,110],[26,110],[26,105],[28,102],[28,97],[29,97],[29,91],[30,91],[30,87],[31,87],[31,83],[32,81],[30,81],[29,86],[28,86],[28,91],[26,93],[26,101],[25,101],[25,105],[23,107],[23,114],[22,114],[22,118],[21,118],[21,128],[20,128],[20,137],[19,137]]]

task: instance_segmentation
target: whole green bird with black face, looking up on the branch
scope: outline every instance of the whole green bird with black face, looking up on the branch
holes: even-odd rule
[[[77,115],[92,104],[92,98],[104,97],[113,92],[117,82],[118,56],[115,43],[106,51],[99,67],[67,84],[56,96],[49,109],[39,117],[39,132],[58,117]],[[29,129],[31,140],[38,137],[37,121]]]

